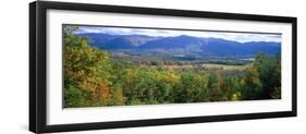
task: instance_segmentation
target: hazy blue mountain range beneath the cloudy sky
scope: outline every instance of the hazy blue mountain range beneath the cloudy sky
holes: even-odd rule
[[[238,42],[222,38],[194,36],[155,37],[147,35],[78,34],[90,38],[89,45],[109,51],[130,53],[172,54],[173,57],[254,57],[258,52],[277,54],[281,42]]]

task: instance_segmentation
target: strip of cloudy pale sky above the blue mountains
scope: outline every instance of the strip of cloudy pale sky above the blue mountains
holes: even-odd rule
[[[248,41],[274,41],[281,42],[281,35],[277,34],[249,34],[249,33],[225,33],[225,32],[198,32],[198,31],[172,31],[172,29],[148,29],[148,28],[125,28],[125,27],[101,27],[101,26],[79,26],[76,34],[101,33],[110,35],[147,35],[174,37],[180,35],[222,38],[227,40],[248,42]]]

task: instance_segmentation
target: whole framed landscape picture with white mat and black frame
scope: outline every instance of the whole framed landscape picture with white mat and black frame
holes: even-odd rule
[[[29,131],[296,117],[296,17],[29,4]]]

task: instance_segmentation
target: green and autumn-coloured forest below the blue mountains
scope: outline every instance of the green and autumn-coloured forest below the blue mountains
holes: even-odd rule
[[[63,27],[64,108],[281,98],[280,54],[259,52],[242,70],[198,65],[206,62],[130,63],[89,46],[75,29]],[[192,68],[162,68],[186,64]]]

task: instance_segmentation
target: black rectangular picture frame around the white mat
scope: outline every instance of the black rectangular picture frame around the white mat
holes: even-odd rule
[[[47,14],[46,11],[49,9],[290,23],[292,24],[292,110],[278,111],[278,112],[262,112],[262,113],[186,117],[186,118],[181,117],[181,118],[171,118],[171,119],[48,125],[46,123],[47,121],[47,114],[46,114]],[[118,5],[101,5],[101,4],[87,4],[87,3],[69,3],[69,2],[49,2],[49,1],[32,2],[29,3],[29,131],[35,133],[49,133],[49,132],[69,132],[69,131],[102,130],[102,129],[117,129],[117,127],[134,127],[134,126],[149,126],[149,125],[169,125],[169,124],[184,124],[184,123],[296,117],[297,115],[297,105],[296,105],[296,64],[297,64],[296,63],[296,59],[297,59],[296,34],[297,32],[296,28],[297,28],[297,19],[287,17],[287,16],[201,12],[201,11],[118,7]]]

